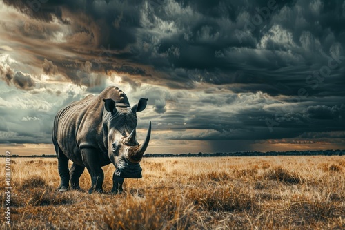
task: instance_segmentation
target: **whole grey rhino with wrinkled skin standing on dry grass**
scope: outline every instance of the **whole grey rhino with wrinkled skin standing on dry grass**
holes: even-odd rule
[[[150,140],[151,123],[143,145],[136,138],[137,112],[146,108],[141,98],[130,107],[118,87],[107,87],[99,96],[86,96],[67,105],[55,116],[52,142],[58,158],[61,185],[59,191],[80,189],[79,178],[85,167],[91,176],[93,191],[102,192],[102,166],[112,163],[112,193],[122,191],[124,178],[141,178],[139,162]],[[68,160],[73,164],[68,169]]]

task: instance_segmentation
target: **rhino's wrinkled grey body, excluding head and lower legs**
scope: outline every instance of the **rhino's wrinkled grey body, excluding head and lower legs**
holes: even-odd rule
[[[92,147],[100,155],[102,165],[110,163],[103,134],[103,99],[128,103],[128,98],[117,87],[107,87],[98,96],[88,95],[61,109],[55,116],[54,134],[63,154],[82,165],[81,149]],[[129,104],[129,103],[128,103]],[[106,117],[106,116],[105,116]]]

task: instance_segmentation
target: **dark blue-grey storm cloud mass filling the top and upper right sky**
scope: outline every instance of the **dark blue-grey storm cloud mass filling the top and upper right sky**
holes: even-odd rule
[[[243,83],[252,92],[293,95],[315,84],[315,77],[308,83],[306,78],[327,66],[331,53],[345,55],[342,1],[5,2],[35,19],[70,25],[70,48],[89,50],[84,61],[94,63],[93,71],[145,76],[141,81],[172,88]],[[343,64],[313,94],[331,94],[326,83],[336,81],[339,87],[333,90],[344,95]],[[79,83],[75,75],[66,74]],[[276,89],[277,84],[290,92]]]

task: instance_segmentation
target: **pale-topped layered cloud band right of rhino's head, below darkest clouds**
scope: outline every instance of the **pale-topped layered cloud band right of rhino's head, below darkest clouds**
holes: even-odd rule
[[[150,98],[149,105],[153,102],[164,105],[164,113],[161,115],[158,115],[160,111],[156,111],[156,105],[152,105],[158,113],[154,124],[155,130],[174,130],[176,133],[169,134],[169,139],[303,139],[306,136],[302,134],[320,132],[325,126],[329,132],[345,129],[342,123],[345,116],[344,105],[337,102],[339,98],[310,98],[308,101],[298,102],[297,97],[293,100],[290,97],[278,98],[263,93],[233,94],[218,87],[210,88],[204,94],[194,90],[178,90],[172,94],[156,90],[157,96],[150,94],[154,91],[152,88],[142,89],[141,94]],[[165,100],[159,100],[159,97]],[[166,136],[156,138],[164,139]]]

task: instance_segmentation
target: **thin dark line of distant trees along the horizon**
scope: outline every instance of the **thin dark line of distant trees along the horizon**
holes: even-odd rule
[[[144,157],[209,157],[209,156],[343,156],[345,150],[315,150],[315,151],[237,151],[230,153],[201,153],[198,154],[145,154]],[[4,155],[0,155],[4,157]],[[30,156],[19,156],[11,155],[11,157],[46,157],[52,158],[57,157],[56,155],[30,155]]]

